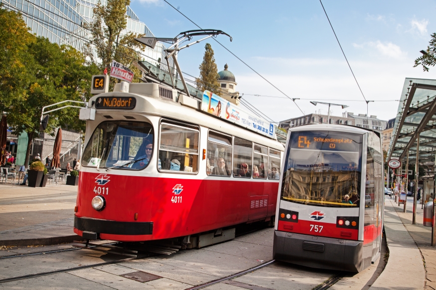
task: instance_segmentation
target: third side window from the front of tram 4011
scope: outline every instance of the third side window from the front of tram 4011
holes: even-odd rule
[[[253,159],[253,143],[235,137],[233,143],[233,176],[251,177]]]

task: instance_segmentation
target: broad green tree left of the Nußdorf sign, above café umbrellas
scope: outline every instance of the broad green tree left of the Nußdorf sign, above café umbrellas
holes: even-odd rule
[[[89,97],[90,79],[98,69],[84,66],[84,56],[71,46],[59,46],[47,38],[37,37],[27,45],[22,61],[28,76],[23,94],[10,98],[6,107],[8,125],[12,133],[28,135],[24,164],[28,164],[33,140],[38,137],[42,107],[63,100],[84,100]],[[85,130],[77,108],[66,108],[50,114],[46,131],[54,133],[57,127]]]

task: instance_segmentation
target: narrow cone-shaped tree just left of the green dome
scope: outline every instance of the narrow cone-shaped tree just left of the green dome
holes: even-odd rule
[[[199,66],[200,77],[195,79],[197,89],[200,91],[210,91],[220,96],[220,84],[218,83],[219,75],[215,63],[214,52],[209,43],[205,45],[203,62]]]

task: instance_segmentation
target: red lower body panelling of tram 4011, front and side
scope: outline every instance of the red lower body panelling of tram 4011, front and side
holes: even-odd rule
[[[278,182],[267,180],[195,176],[177,179],[82,172],[76,216],[153,223],[152,234],[102,232],[102,239],[145,241],[180,237],[274,215],[278,187]],[[91,206],[96,195],[104,196],[104,210],[97,211]],[[82,235],[77,228],[74,231]]]

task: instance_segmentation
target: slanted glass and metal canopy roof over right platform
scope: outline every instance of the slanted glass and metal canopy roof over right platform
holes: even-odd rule
[[[436,154],[436,80],[406,78],[395,119],[388,159],[406,157],[416,163],[417,138],[419,162],[434,162]]]

